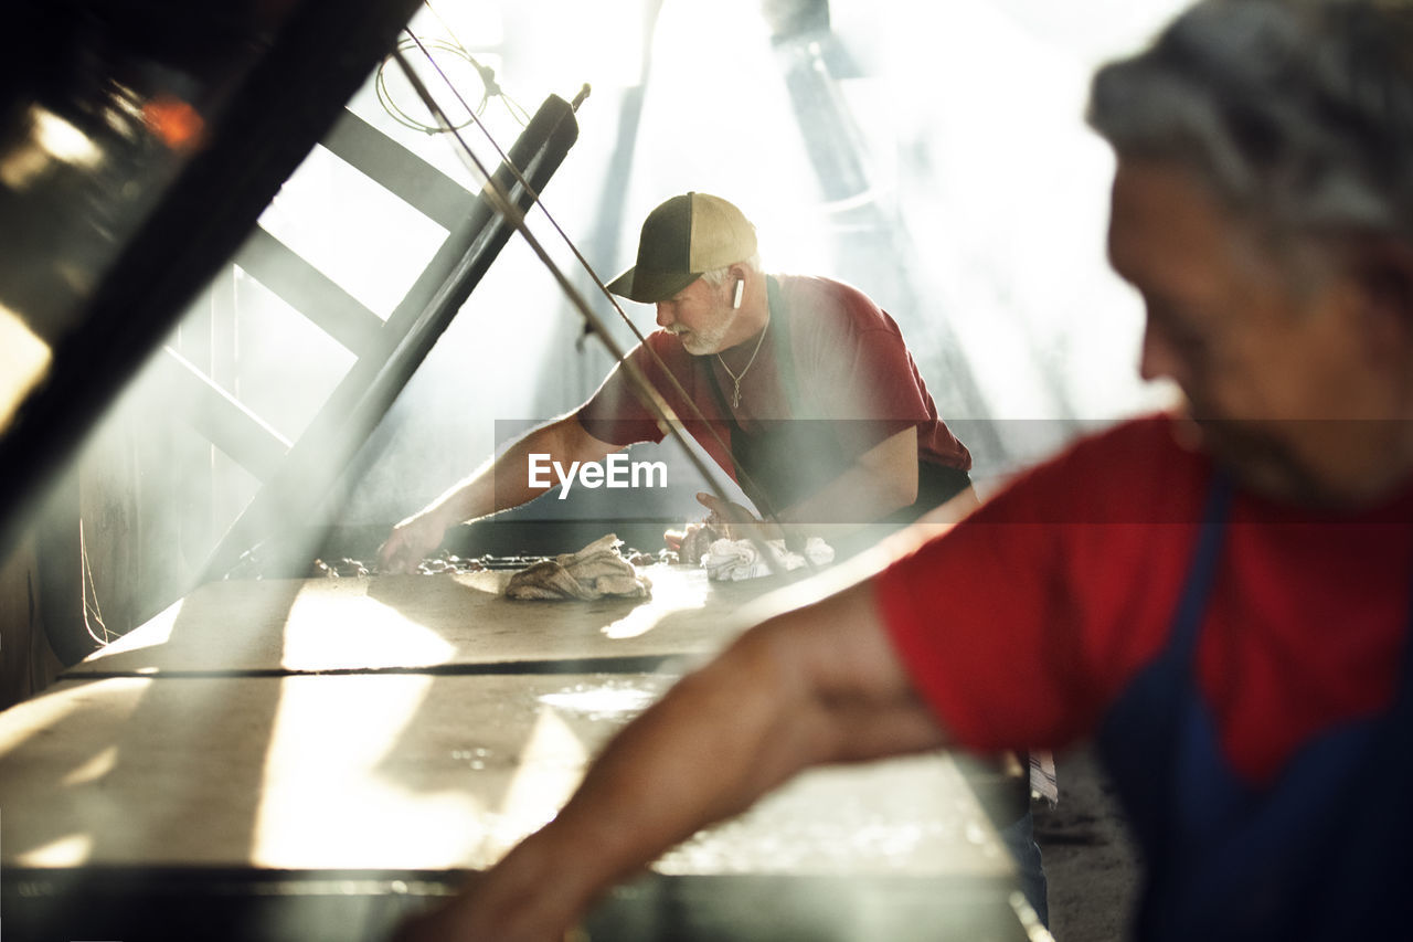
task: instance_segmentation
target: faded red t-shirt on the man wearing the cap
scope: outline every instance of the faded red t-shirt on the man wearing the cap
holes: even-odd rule
[[[917,426],[921,461],[971,468],[971,455],[938,419],[903,334],[887,313],[839,281],[804,276],[774,280],[783,310],[771,306],[760,349],[740,382],[739,407],[731,407],[732,379],[716,356],[692,356],[664,331],[646,338],[723,443],[731,443],[732,416],[746,434],[767,434],[771,420],[828,420],[844,454],[853,458]],[[781,342],[783,335],[788,335],[788,344]],[[753,345],[755,338],[747,344]],[[694,417],[644,345],[633,348],[629,359],[663,395],[682,427],[735,478],[725,448]],[[794,376],[794,389],[786,388],[788,375]],[[578,419],[601,441],[626,446],[663,440],[622,366],[579,407]]]

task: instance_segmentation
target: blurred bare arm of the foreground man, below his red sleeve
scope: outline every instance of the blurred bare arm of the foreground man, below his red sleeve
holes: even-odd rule
[[[944,744],[870,583],[771,618],[630,723],[560,815],[403,942],[558,942],[609,887],[810,765]]]

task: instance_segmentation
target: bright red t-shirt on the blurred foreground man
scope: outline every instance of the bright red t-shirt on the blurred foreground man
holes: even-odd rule
[[[1211,477],[1167,419],[1126,423],[879,576],[883,622],[964,745],[1095,730],[1169,639]],[[1269,781],[1307,738],[1390,703],[1410,576],[1413,487],[1344,516],[1236,494],[1195,659],[1238,774]]]

